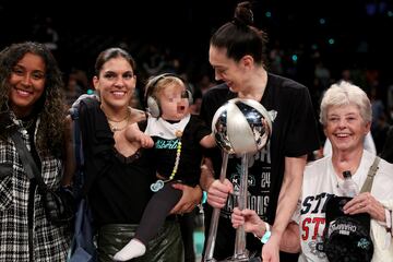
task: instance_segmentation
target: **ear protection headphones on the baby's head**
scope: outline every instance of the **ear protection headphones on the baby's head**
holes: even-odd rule
[[[148,84],[147,91],[146,91],[147,111],[154,118],[158,118],[162,115],[159,100],[156,97],[154,97],[154,95],[153,95],[154,90],[156,88],[157,83],[159,81],[162,81],[163,79],[168,78],[168,76],[174,76],[174,78],[181,80],[181,82],[186,86],[186,94],[184,94],[186,97],[183,97],[183,98],[188,98],[189,105],[192,105],[192,103],[193,103],[191,91],[189,90],[186,81],[182,78],[180,78],[179,75],[172,74],[172,73],[164,73],[164,74],[157,75],[157,76],[155,76],[155,80],[151,84]]]

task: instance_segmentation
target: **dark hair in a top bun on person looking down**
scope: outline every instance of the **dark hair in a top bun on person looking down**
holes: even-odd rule
[[[255,63],[265,67],[267,35],[254,27],[249,1],[240,2],[235,9],[234,20],[221,26],[211,38],[211,46],[226,48],[227,57],[235,61],[250,55]]]

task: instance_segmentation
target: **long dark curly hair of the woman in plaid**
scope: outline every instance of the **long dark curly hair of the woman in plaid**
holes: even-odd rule
[[[63,147],[64,99],[62,73],[52,53],[45,45],[33,41],[13,44],[0,52],[0,114],[10,116],[9,94],[10,78],[13,68],[26,53],[39,56],[45,63],[45,92],[36,102],[34,110],[38,112],[40,122],[37,131],[37,150],[47,155],[60,155]],[[4,130],[0,136],[4,138]]]

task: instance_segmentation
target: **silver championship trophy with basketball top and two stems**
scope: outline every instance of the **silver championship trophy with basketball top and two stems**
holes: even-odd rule
[[[255,153],[265,146],[272,133],[272,117],[266,109],[253,99],[234,98],[219,107],[212,121],[212,130],[218,146],[223,151],[223,164],[219,180],[224,181],[228,155],[241,155],[241,179],[238,195],[238,207],[247,207],[248,193],[248,154]],[[206,242],[204,262],[215,262],[213,258],[219,209],[214,209]],[[249,261],[246,249],[243,226],[236,230],[234,255],[224,261]]]

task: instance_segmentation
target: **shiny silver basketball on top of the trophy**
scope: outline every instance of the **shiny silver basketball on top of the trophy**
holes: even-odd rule
[[[217,109],[212,130],[218,146],[228,154],[254,153],[272,134],[272,116],[253,99],[234,98]]]

